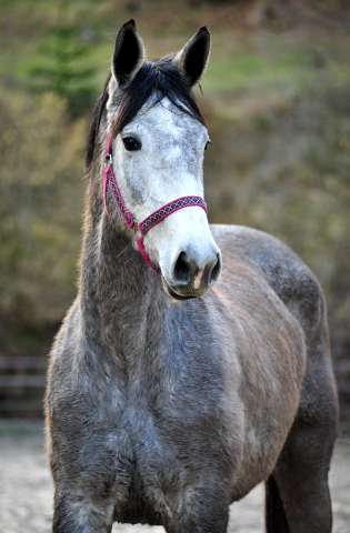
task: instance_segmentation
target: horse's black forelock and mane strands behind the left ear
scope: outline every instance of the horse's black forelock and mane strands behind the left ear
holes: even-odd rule
[[[86,163],[88,168],[93,159],[97,135],[109,98],[108,84],[110,78],[111,73],[108,77],[104,90],[93,111],[93,119],[86,152]],[[152,105],[167,97],[171,103],[183,113],[193,117],[206,125],[204,118],[197,105],[187,79],[178,67],[172,64],[168,58],[163,58],[154,62],[143,63],[121,94],[120,110],[113,124],[112,139],[116,138],[116,135],[118,135],[129,122],[131,122],[153,93],[157,93],[157,99]]]

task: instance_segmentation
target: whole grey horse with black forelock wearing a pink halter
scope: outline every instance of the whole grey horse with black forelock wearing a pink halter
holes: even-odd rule
[[[202,27],[154,61],[118,33],[87,145],[78,296],[46,395],[53,533],[224,533],[266,483],[268,533],[329,533],[338,401],[316,276],[273,237],[211,225],[192,89]]]

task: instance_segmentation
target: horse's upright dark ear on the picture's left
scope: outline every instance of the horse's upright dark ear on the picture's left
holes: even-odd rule
[[[112,58],[112,74],[118,87],[123,87],[133,78],[142,64],[144,48],[136,30],[134,20],[126,22],[119,30]]]

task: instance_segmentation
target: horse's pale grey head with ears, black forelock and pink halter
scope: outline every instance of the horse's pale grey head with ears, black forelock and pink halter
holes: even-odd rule
[[[221,273],[202,199],[210,140],[191,92],[209,50],[201,28],[180,52],[146,61],[131,20],[117,37],[108,84],[106,210],[134,230],[134,247],[177,300],[206,294]]]

